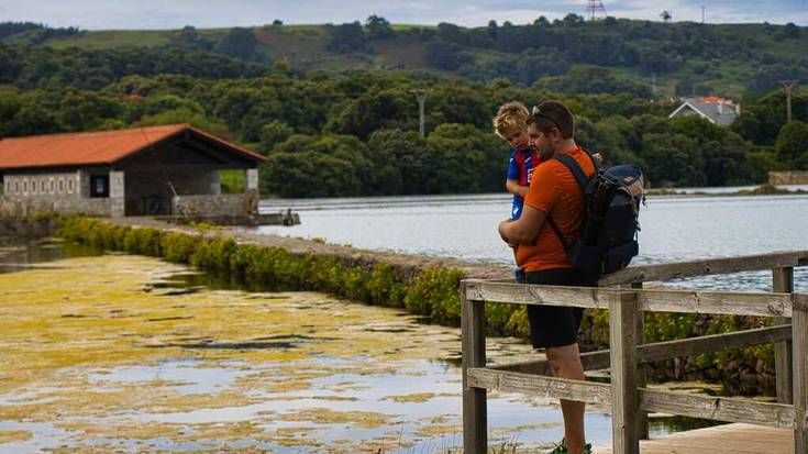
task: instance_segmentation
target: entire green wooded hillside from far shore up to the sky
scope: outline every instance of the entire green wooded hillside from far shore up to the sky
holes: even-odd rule
[[[491,131],[497,106],[562,99],[580,142],[642,165],[653,186],[746,184],[808,169],[808,91],[794,93],[786,125],[776,89],[781,69],[806,70],[807,34],[574,15],[480,29],[375,16],[162,32],[5,23],[0,136],[189,122],[267,154],[266,193],[488,192],[502,190],[508,157]],[[738,90],[742,115],[731,128],[669,120],[677,102],[652,91],[651,74],[662,87],[679,77],[688,95]],[[431,90],[425,139],[412,89]]]

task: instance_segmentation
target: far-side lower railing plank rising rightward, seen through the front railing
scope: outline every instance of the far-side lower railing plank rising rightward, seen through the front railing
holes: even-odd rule
[[[792,325],[757,328],[732,333],[710,334],[700,337],[680,339],[676,341],[655,342],[637,346],[638,364],[665,359],[676,356],[693,356],[701,353],[721,352],[750,345],[767,344],[792,339]],[[584,370],[597,370],[609,367],[610,352],[600,350],[580,355]],[[523,374],[550,375],[550,363],[545,359],[490,366],[497,370],[519,372]]]

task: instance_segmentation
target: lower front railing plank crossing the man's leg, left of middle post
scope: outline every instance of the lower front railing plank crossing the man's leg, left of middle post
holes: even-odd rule
[[[566,378],[494,370],[489,368],[468,369],[468,386],[601,406],[607,406],[611,401],[611,389],[608,384],[569,380]]]

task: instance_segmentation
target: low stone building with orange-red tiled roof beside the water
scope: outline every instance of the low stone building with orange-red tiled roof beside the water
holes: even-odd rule
[[[240,214],[255,208],[264,156],[188,124],[0,140],[0,212]],[[221,195],[219,173],[245,173]]]

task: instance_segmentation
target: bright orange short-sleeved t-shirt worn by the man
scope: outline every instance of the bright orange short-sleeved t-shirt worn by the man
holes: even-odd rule
[[[595,174],[591,159],[580,146],[564,153],[575,158],[588,177]],[[577,239],[584,215],[584,190],[561,162],[550,159],[534,170],[524,204],[552,215],[568,242]],[[539,230],[535,244],[519,245],[517,265],[525,272],[573,267],[567,262],[564,245],[546,219]]]

